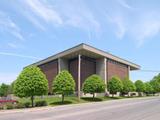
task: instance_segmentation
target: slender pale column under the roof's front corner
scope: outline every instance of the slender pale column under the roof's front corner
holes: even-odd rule
[[[81,55],[78,55],[78,99],[81,97]]]

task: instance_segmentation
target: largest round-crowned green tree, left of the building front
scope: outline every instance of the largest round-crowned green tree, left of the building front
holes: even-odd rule
[[[24,68],[14,82],[14,94],[18,97],[31,97],[32,107],[34,96],[48,93],[48,81],[40,68],[29,66]]]

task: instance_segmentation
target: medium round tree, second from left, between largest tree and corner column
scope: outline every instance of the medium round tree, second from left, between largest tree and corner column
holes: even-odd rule
[[[64,103],[64,96],[72,94],[75,91],[75,81],[72,75],[67,71],[61,71],[53,81],[53,93],[62,95],[62,103]]]

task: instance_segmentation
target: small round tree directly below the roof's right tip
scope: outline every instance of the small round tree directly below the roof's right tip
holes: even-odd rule
[[[137,80],[135,82],[136,91],[138,92],[139,96],[141,95],[141,92],[145,91],[145,84],[141,80]]]

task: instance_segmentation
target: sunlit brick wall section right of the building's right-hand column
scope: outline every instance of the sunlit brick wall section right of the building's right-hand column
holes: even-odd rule
[[[107,61],[107,76],[110,80],[113,76],[118,76],[120,79],[128,77],[128,67],[127,65],[118,63],[116,61]]]

